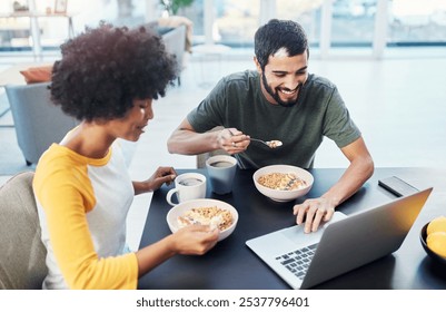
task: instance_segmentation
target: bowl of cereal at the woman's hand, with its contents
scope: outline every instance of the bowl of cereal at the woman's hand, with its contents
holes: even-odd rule
[[[167,224],[172,233],[192,224],[208,225],[211,230],[218,227],[220,231],[218,241],[228,237],[237,222],[238,213],[234,206],[210,198],[182,202],[167,213]]]

